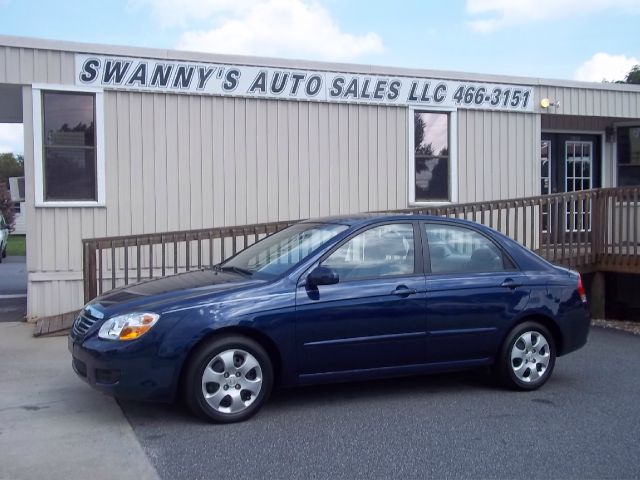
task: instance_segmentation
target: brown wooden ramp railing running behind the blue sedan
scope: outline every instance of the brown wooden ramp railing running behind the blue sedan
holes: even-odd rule
[[[640,272],[639,195],[640,187],[608,188],[380,213],[473,220],[557,264]],[[142,279],[214,265],[295,222],[85,239],[85,301]]]

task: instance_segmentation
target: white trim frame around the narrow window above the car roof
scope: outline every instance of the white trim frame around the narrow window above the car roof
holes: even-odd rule
[[[455,108],[408,108],[409,128],[407,131],[409,145],[409,206],[433,206],[451,205],[458,203],[458,111]],[[413,116],[415,112],[433,112],[449,114],[449,201],[416,202],[416,152],[413,140],[415,138],[415,124]]]

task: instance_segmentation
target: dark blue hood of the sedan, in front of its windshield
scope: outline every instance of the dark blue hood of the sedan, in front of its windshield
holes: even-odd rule
[[[180,306],[183,302],[209,298],[222,292],[263,283],[265,280],[252,279],[233,272],[196,270],[111,290],[91,301],[86,310],[96,318],[106,318],[135,309],[160,311]]]

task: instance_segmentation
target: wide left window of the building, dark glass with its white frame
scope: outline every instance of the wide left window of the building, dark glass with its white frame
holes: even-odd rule
[[[47,87],[33,87],[36,206],[104,206],[103,93]]]

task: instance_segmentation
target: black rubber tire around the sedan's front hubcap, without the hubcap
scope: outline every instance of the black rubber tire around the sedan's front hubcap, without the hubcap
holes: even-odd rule
[[[211,387],[211,393],[219,393],[219,395],[223,395],[222,389],[223,386],[227,389],[231,389],[229,393],[235,393],[233,391],[234,385],[228,384],[218,384],[216,382],[207,383],[206,387],[203,383],[203,375],[205,373],[205,368],[208,368],[210,363],[222,353],[227,351],[238,350],[240,352],[245,352],[254,357],[259,364],[259,371],[261,373],[261,387],[259,393],[252,397],[250,392],[244,389],[241,389],[239,395],[241,395],[242,405],[245,404],[243,395],[248,395],[251,403],[243,407],[243,410],[238,412],[222,412],[216,410],[206,399],[204,395],[204,388],[207,390]],[[236,362],[237,358],[244,358],[242,355],[234,355],[233,362]],[[246,358],[244,358],[246,361]],[[244,363],[238,364],[237,371],[242,368]],[[214,365],[215,366],[215,365]],[[235,368],[235,367],[232,367]],[[218,367],[219,369],[219,367]],[[213,370],[213,369],[211,369]],[[221,371],[225,372],[229,369],[222,368]],[[256,376],[257,378],[257,369],[253,369],[249,375]],[[218,374],[215,370],[214,373]],[[227,372],[228,373],[228,372]],[[250,378],[247,375],[247,379]],[[236,382],[234,378],[233,372],[230,373],[230,378],[228,380],[223,380],[224,382]],[[238,380],[239,382],[239,380]],[[216,387],[217,385],[217,387]],[[237,384],[239,385],[239,383]],[[215,337],[212,340],[200,345],[193,355],[191,356],[189,363],[185,369],[185,382],[184,382],[184,394],[185,401],[189,408],[201,418],[204,418],[209,421],[217,422],[217,423],[232,423],[232,422],[241,422],[243,420],[248,419],[252,415],[254,415],[260,407],[266,402],[269,398],[269,394],[271,393],[271,389],[273,387],[273,366],[271,359],[267,352],[262,348],[262,346],[255,342],[254,340],[240,336],[240,335],[224,335],[220,337]],[[240,387],[238,387],[240,389]],[[226,390],[229,391],[229,390]],[[225,408],[225,400],[231,400],[231,396],[228,398],[223,398],[223,401],[219,403],[218,408]],[[214,400],[212,400],[214,401]],[[237,399],[235,401],[238,401]],[[215,403],[218,403],[215,401]],[[238,405],[237,403],[235,405]]]

